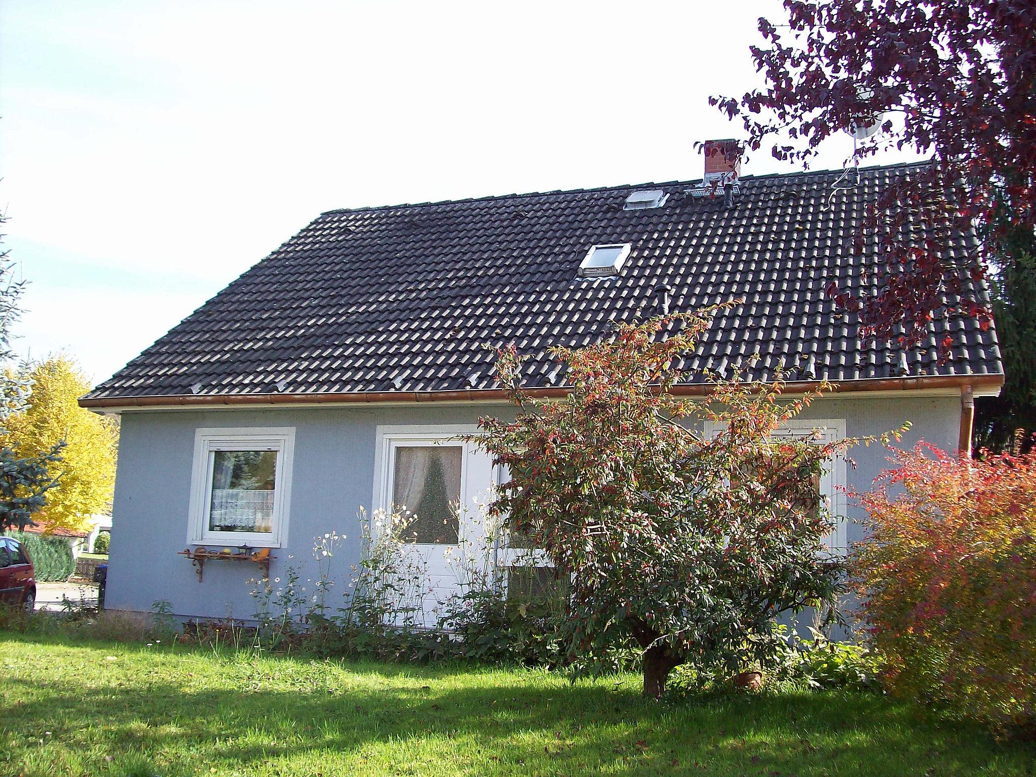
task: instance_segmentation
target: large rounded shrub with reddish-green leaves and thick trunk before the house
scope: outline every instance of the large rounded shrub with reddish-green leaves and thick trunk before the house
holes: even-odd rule
[[[825,545],[836,516],[816,484],[832,459],[872,441],[809,432],[776,442],[818,396],[788,399],[779,376],[748,384],[735,372],[707,402],[670,393],[713,312],[551,349],[572,386],[556,401],[523,392],[521,356],[501,348],[497,379],[518,409],[466,436],[510,476],[490,517],[572,580],[566,653],[607,666],[636,644],[645,696],[681,664],[737,674],[771,663],[779,616],[837,600],[843,559]],[[716,434],[693,431],[707,422]]]

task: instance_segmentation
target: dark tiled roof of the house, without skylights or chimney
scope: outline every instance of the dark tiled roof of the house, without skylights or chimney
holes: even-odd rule
[[[951,321],[956,345],[941,365],[933,335],[905,350],[864,343],[825,294],[831,281],[873,287],[874,258],[852,256],[854,228],[882,188],[921,169],[865,168],[857,186],[837,183],[841,171],[745,177],[729,208],[671,182],[333,210],[87,396],[489,388],[484,344],[509,342],[530,354],[528,383],[546,386],[549,346],[654,314],[659,284],[672,310],[744,298],[716,318],[690,370],[722,373],[757,352],[749,378],[782,359],[794,380],[1000,373],[995,332],[973,319]],[[666,204],[624,210],[645,188],[670,193]],[[918,219],[909,228],[923,238]],[[609,242],[632,243],[622,275],[578,278],[588,247]],[[948,260],[973,244],[957,240]],[[962,284],[986,296],[967,274]]]

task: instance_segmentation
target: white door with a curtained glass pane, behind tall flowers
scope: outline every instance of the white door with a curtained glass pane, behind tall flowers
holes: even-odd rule
[[[378,428],[374,505],[399,516],[399,596],[416,625],[434,626],[440,605],[492,562],[485,522],[492,459],[457,438],[468,431],[474,427]]]

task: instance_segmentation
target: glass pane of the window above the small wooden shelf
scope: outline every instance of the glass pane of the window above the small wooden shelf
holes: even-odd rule
[[[215,451],[209,530],[272,531],[276,473],[277,451]]]

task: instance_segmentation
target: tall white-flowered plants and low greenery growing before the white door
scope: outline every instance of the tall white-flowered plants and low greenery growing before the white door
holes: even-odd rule
[[[567,663],[560,624],[565,592],[557,585],[508,582],[490,564],[499,527],[487,526],[479,547],[463,541],[451,557],[461,593],[423,612],[427,562],[405,551],[407,516],[361,511],[362,555],[345,579],[332,564],[345,538],[315,538],[317,578],[303,580],[289,565],[280,576],[254,580],[256,625],[224,621],[191,624],[185,638],[207,644],[317,656],[429,662],[464,659],[556,667]],[[335,586],[344,584],[340,596]],[[431,623],[426,621],[431,615]]]

